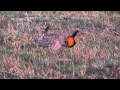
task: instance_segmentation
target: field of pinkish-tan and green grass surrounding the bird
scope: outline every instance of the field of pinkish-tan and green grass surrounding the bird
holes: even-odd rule
[[[79,41],[51,54],[38,47],[47,25]],[[120,12],[0,11],[0,79],[120,79]]]

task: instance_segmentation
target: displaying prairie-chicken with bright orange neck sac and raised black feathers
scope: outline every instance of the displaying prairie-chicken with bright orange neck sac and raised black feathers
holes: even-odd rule
[[[75,39],[76,39],[78,30],[76,30],[72,35],[65,38],[60,34],[54,34],[54,33],[48,34],[47,33],[48,29],[49,27],[45,29],[45,31],[43,32],[42,36],[39,39],[40,47],[48,48],[50,51],[53,52],[55,50],[58,50],[62,46],[71,48],[76,44]]]

